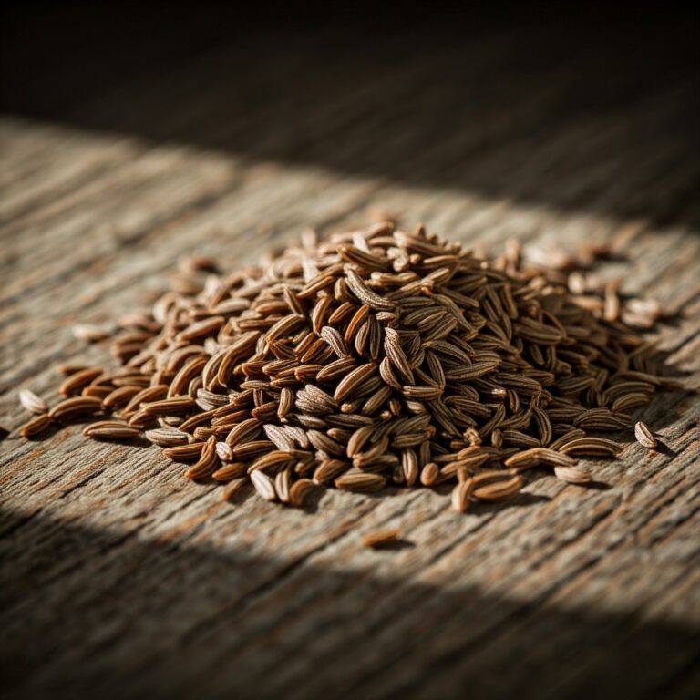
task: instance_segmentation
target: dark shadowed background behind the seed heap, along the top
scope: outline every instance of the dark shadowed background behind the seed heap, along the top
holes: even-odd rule
[[[5,4],[3,110],[560,209],[700,221],[690,4],[301,5]],[[543,148],[551,166],[530,177]],[[650,194],[660,178],[667,186]]]

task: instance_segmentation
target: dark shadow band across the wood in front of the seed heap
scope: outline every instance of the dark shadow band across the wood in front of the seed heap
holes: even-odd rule
[[[697,671],[697,629],[633,611],[144,541],[41,513],[5,510],[0,531],[2,685],[14,698],[682,697]]]

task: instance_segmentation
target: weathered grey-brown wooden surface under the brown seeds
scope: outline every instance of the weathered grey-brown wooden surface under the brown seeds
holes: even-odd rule
[[[664,448],[596,463],[601,488],[542,476],[466,515],[427,489],[226,504],[155,448],[16,435],[18,389],[54,401],[59,362],[108,357],[74,322],[148,304],[182,255],[235,267],[370,205],[496,251],[612,242],[602,274],[664,305],[654,334],[697,389],[696,78],[671,44],[642,77],[613,38],[604,60],[497,32],[355,61],[251,39],[75,94],[26,78],[45,112],[0,120],[5,697],[694,695],[694,393],[639,412]],[[387,527],[399,547],[362,547]]]

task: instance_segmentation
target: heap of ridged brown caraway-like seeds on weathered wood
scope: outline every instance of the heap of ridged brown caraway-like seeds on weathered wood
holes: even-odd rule
[[[466,510],[517,493],[535,467],[585,483],[577,458],[621,450],[590,433],[631,431],[665,380],[616,290],[591,293],[555,262],[529,267],[517,244],[489,262],[390,222],[309,232],[228,275],[194,259],[149,314],[120,319],[122,368],[65,367],[71,397],[50,410],[23,393],[38,414],[23,433],[107,414],[85,434],[144,435],[190,479],[226,483],[224,499],[252,483],[290,505],[317,485],[451,482]],[[643,326],[656,310],[626,313]]]

